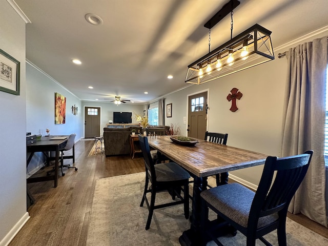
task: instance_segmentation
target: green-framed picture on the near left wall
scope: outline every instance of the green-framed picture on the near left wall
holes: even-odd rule
[[[0,91],[19,95],[20,63],[0,49]]]

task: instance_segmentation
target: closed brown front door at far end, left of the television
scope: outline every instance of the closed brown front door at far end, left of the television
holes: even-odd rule
[[[100,108],[85,107],[84,137],[94,138],[100,135]]]

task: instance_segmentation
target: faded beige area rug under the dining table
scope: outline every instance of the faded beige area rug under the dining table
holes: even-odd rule
[[[213,182],[213,183],[212,183]],[[190,228],[190,221],[183,216],[183,204],[154,211],[151,226],[145,230],[148,209],[146,204],[139,207],[144,189],[145,173],[122,175],[96,180],[90,224],[88,246],[108,245],[180,245],[179,237]],[[215,180],[209,179],[210,185]],[[166,193],[159,193],[156,200],[171,199]],[[191,209],[190,209],[191,211]],[[214,216],[215,214],[212,214]],[[328,239],[287,218],[287,244],[292,246],[328,245]],[[265,238],[278,245],[276,231]],[[221,237],[224,245],[245,245],[245,237]],[[264,245],[257,240],[256,245]],[[208,246],[216,245],[213,241]]]

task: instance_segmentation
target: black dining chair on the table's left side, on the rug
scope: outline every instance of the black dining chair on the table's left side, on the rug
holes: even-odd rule
[[[166,208],[176,204],[184,204],[185,218],[189,218],[189,173],[174,162],[159,163],[154,165],[150,154],[148,139],[146,136],[139,134],[139,143],[144,155],[146,168],[145,190],[142,195],[140,207],[144,206],[146,201],[149,214],[146,223],[146,230],[150,228],[150,223],[155,209]],[[151,186],[148,188],[149,181]],[[183,186],[183,197],[181,196],[181,187]],[[165,204],[155,205],[156,193],[160,191],[169,191],[172,199],[176,196],[180,198],[178,201],[172,201]],[[151,193],[150,203],[147,199],[147,193]]]

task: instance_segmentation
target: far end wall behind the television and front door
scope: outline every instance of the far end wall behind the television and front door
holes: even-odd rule
[[[113,120],[113,112],[131,112],[132,113],[132,123],[137,123],[135,119],[135,114],[144,115],[144,105],[136,104],[120,104],[115,105],[113,103],[103,103],[99,101],[82,101],[81,109],[89,107],[100,107],[101,108],[101,122],[100,122],[100,134],[103,134],[104,127],[107,127],[108,121]]]

